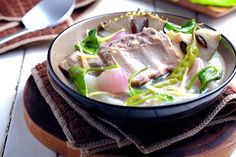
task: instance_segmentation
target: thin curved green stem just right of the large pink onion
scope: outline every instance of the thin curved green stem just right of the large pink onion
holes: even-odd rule
[[[140,90],[140,89],[133,88],[132,85],[131,85],[131,83],[132,83],[133,79],[134,79],[136,76],[138,76],[140,73],[146,71],[147,69],[148,69],[148,67],[145,67],[145,68],[143,68],[143,69],[141,69],[141,70],[136,71],[135,73],[133,73],[133,74],[130,76],[130,78],[129,78],[129,80],[128,80],[128,87],[129,87],[129,91],[130,91],[129,96],[134,96],[134,95],[137,95],[137,94],[140,94],[140,93],[143,92],[143,91]]]

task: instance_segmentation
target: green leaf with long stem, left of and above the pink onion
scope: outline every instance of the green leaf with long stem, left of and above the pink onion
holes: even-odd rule
[[[107,66],[107,67],[98,67],[98,68],[86,68],[83,69],[80,66],[72,66],[69,69],[69,76],[71,78],[71,80],[73,81],[76,90],[84,95],[84,96],[88,96],[88,88],[87,88],[87,84],[86,84],[86,80],[85,80],[85,75],[88,74],[89,72],[92,71],[101,71],[101,70],[110,70],[110,69],[114,69],[114,68],[118,68],[118,65],[111,65],[111,66]]]

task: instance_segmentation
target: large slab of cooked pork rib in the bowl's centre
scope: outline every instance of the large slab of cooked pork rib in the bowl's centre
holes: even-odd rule
[[[128,76],[149,67],[133,80],[133,86],[143,85],[151,78],[172,71],[183,57],[181,53],[177,53],[166,34],[153,28],[144,28],[140,33],[104,43],[98,55],[106,65],[119,64]]]

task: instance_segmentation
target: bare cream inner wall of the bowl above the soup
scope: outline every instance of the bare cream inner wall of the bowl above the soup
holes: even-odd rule
[[[75,51],[74,45],[83,39],[87,30],[96,28],[102,21],[107,21],[111,18],[117,17],[118,15],[120,15],[120,13],[106,14],[81,21],[66,29],[53,42],[50,51],[50,61],[53,71],[57,77],[71,89],[73,89],[71,83],[58,67],[59,63]],[[169,21],[179,24],[186,21],[184,18],[175,17],[173,15],[161,14],[161,17],[162,16],[169,19]],[[226,63],[226,71],[224,72],[225,77],[222,81],[225,82],[234,71],[236,64],[235,52],[230,43],[225,38],[222,38],[218,51]]]

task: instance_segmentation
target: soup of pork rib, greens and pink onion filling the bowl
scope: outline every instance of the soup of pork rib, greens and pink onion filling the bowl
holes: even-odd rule
[[[81,95],[114,105],[165,105],[218,86],[220,38],[194,19],[177,25],[152,12],[128,12],[85,30],[59,67]]]

